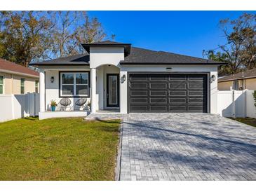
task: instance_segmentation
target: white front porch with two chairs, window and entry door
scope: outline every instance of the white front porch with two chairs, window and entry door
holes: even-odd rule
[[[112,64],[103,64],[96,68],[54,68],[41,71],[39,119],[121,114],[121,106],[126,104],[121,102],[123,83],[120,76],[119,67]],[[83,99],[86,99],[86,103],[76,106],[76,102]],[[61,109],[61,100],[69,100],[70,104]],[[55,111],[51,109],[52,101],[58,104]]]

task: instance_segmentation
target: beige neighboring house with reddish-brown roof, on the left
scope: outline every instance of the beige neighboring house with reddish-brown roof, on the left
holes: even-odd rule
[[[39,92],[39,73],[0,59],[0,95]]]

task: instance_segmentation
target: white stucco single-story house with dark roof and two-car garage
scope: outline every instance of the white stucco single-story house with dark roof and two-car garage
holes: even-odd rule
[[[86,116],[50,111],[50,100],[88,98],[91,113],[203,112],[217,114],[217,67],[197,57],[102,41],[86,54],[34,63],[40,72],[39,118]]]

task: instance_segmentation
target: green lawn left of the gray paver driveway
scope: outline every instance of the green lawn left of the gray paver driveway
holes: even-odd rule
[[[0,180],[114,180],[120,121],[0,123]]]

